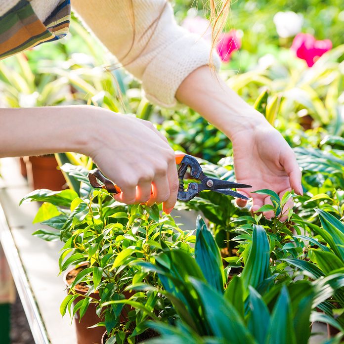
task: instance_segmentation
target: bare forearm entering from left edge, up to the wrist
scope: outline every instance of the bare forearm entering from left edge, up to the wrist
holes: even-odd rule
[[[0,109],[0,158],[85,152],[90,111],[86,106]]]

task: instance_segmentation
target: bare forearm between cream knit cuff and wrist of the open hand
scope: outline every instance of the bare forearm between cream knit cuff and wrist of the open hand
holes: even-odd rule
[[[229,138],[238,131],[267,124],[257,110],[240,98],[208,66],[192,72],[179,86],[176,97]]]

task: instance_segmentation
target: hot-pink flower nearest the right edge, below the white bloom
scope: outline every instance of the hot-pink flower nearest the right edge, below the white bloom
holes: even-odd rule
[[[296,56],[307,62],[308,67],[312,67],[321,55],[332,49],[332,42],[317,41],[314,36],[301,33],[295,36],[291,49],[296,52]]]

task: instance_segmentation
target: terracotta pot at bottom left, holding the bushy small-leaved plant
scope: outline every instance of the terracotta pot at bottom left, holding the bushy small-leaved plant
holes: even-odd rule
[[[83,264],[80,266],[81,269],[85,268],[87,264]],[[64,275],[64,282],[66,285],[70,285],[73,280],[75,279],[76,275],[80,272],[79,270],[73,268],[67,271]],[[74,276],[71,278],[71,275]],[[86,290],[81,290],[78,288],[75,288],[78,294],[86,295]],[[99,300],[99,293],[91,293],[89,295],[90,297]],[[82,300],[83,297],[78,297],[73,301],[73,305],[75,306],[78,301]],[[80,319],[79,311],[75,314],[75,327],[77,330],[77,341],[78,344],[100,344],[101,339],[104,333],[104,327],[94,327],[91,329],[88,329],[87,327],[93,326],[97,324],[100,321],[103,321],[104,319],[101,319],[98,317],[98,315],[95,312],[96,305],[94,303],[90,303],[85,315]]]

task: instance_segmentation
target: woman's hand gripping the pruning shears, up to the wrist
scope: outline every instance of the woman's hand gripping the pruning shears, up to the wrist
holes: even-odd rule
[[[121,188],[114,198],[127,204],[164,202],[164,211],[170,213],[178,178],[167,139],[148,121],[107,110],[97,112],[97,129],[85,154]]]

